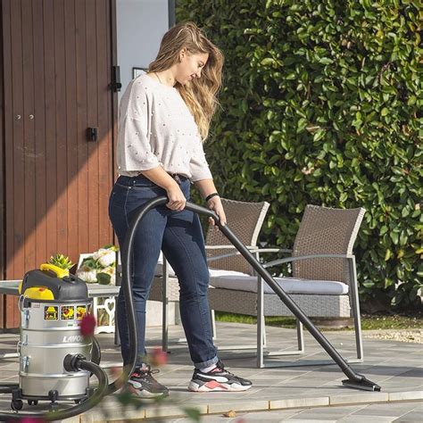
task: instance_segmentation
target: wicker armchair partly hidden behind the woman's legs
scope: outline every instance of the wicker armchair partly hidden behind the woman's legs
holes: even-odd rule
[[[246,203],[234,200],[221,199],[225,214],[228,219],[228,225],[239,239],[252,250],[256,250],[257,237],[266,213],[269,209],[269,203]],[[209,227],[205,238],[205,248],[207,260],[214,261],[213,269],[210,270],[211,277],[220,273],[219,269],[230,269],[246,276],[254,275],[252,267],[245,261],[244,257],[238,255],[234,245],[229,245],[228,239],[223,236],[220,230]],[[226,257],[228,255],[229,257]],[[221,258],[223,257],[223,258]],[[215,260],[217,258],[217,260]],[[210,292],[210,290],[209,290]],[[161,301],[162,308],[162,349],[168,350],[168,310],[167,305],[170,302],[179,301],[178,278],[171,269],[168,261],[161,258],[157,264],[156,276],[154,278],[149,299]],[[216,326],[214,323],[214,312],[211,311],[211,321],[213,334]]]

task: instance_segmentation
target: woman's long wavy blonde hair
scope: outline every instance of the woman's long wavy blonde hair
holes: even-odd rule
[[[202,140],[209,135],[211,118],[219,104],[217,94],[221,87],[223,54],[204,35],[194,22],[184,22],[169,29],[162,37],[159,53],[148,66],[149,72],[166,71],[179,62],[179,53],[187,48],[190,54],[208,53],[202,76],[175,87],[194,116]]]

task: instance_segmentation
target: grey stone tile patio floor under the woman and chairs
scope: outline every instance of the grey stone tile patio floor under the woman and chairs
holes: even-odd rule
[[[285,328],[266,328],[268,346],[271,350],[284,347],[295,348],[295,330]],[[255,327],[238,323],[218,322],[216,344],[253,344]],[[344,358],[353,357],[354,344],[352,331],[325,332],[329,341]],[[420,414],[423,400],[423,348],[421,344],[408,344],[392,340],[368,339],[364,336],[364,363],[352,364],[358,373],[364,374],[382,386],[382,392],[372,393],[342,386],[345,378],[342,371],[334,365],[257,369],[254,352],[224,351],[220,358],[229,370],[236,375],[250,378],[253,388],[245,393],[195,394],[187,392],[187,383],[193,367],[186,344],[176,344],[183,336],[181,327],[170,328],[169,362],[161,368],[158,379],[170,387],[170,398],[162,403],[160,409],[148,406],[142,411],[129,411],[125,419],[136,421],[144,419],[169,418],[167,421],[190,421],[184,417],[183,408],[197,408],[203,414],[202,421],[236,421],[221,418],[225,411],[236,411],[243,421],[304,421],[316,419],[325,421],[413,421]],[[0,334],[0,353],[16,351],[19,335]],[[161,344],[161,328],[147,328],[147,347]],[[102,346],[102,363],[120,363],[120,351],[113,345],[113,336],[101,334],[98,340]],[[298,357],[298,356],[296,356]],[[305,353],[302,360],[327,360],[319,344],[305,334]],[[293,360],[284,357],[275,360]],[[17,381],[17,359],[0,360],[1,380]],[[404,402],[408,401],[408,402]],[[342,407],[340,407],[342,406]],[[384,408],[385,407],[385,408]],[[10,409],[10,396],[0,395],[0,410]],[[46,409],[46,403],[34,407],[24,405],[23,411]],[[344,411],[341,411],[343,409]],[[336,411],[337,410],[337,411]],[[379,410],[379,411],[378,411]],[[245,411],[248,411],[245,414]],[[263,412],[266,411],[266,412]],[[107,412],[107,415],[104,413]],[[213,414],[214,413],[214,414]],[[378,413],[378,414],[377,414]],[[391,413],[391,414],[390,414]],[[260,417],[258,415],[261,415]],[[257,419],[254,417],[257,415]],[[271,420],[270,418],[274,419]],[[123,421],[124,415],[115,395],[103,401],[91,411],[81,416],[67,419],[68,422]],[[214,420],[213,420],[214,419]],[[192,420],[191,420],[192,421]],[[418,420],[415,420],[418,421]]]

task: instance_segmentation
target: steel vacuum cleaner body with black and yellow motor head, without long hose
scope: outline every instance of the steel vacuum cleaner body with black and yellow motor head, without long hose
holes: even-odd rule
[[[29,405],[50,402],[50,411],[58,411],[62,401],[79,404],[92,397],[98,402],[108,378],[98,366],[100,350],[95,338],[80,333],[80,323],[92,306],[87,284],[69,270],[45,263],[25,274],[19,293],[19,384],[0,385],[0,393],[12,394],[12,411],[21,411],[23,401]],[[92,374],[99,380],[96,393],[89,386]],[[79,414],[82,407],[75,409],[71,415]],[[40,414],[0,412],[0,419],[7,420],[29,416]]]

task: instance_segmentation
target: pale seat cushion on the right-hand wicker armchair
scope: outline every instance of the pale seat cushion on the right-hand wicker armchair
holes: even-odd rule
[[[235,289],[237,291],[257,292],[257,278],[245,273],[228,270],[211,270],[210,285],[215,288]],[[299,278],[275,278],[286,294],[348,294],[348,285],[335,280],[311,280]],[[264,281],[263,281],[264,282]],[[275,294],[264,282],[264,293]]]

